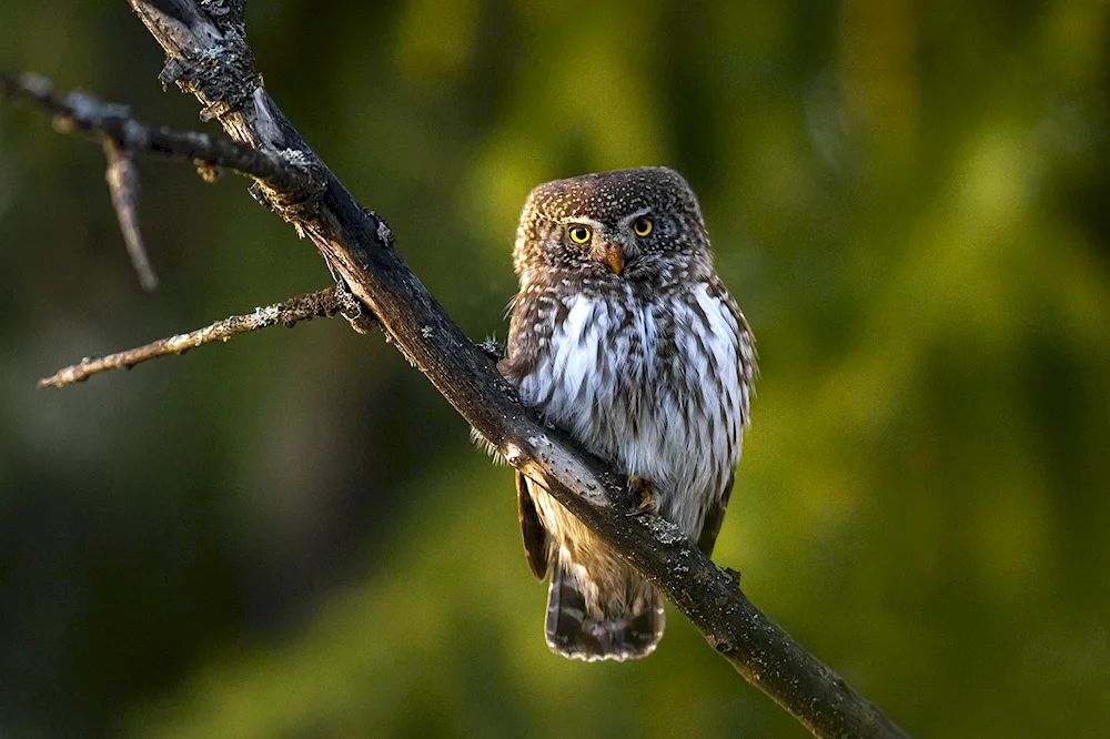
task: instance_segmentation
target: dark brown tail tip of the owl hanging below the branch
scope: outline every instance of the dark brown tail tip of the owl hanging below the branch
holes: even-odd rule
[[[628,573],[628,577],[613,584],[623,587],[626,597],[606,598],[603,589],[597,598],[601,613],[592,613],[583,590],[595,588],[596,584],[583,583],[564,567],[563,563],[555,564],[547,591],[546,632],[551,650],[589,662],[650,655],[663,638],[666,625],[659,591],[647,580]]]

